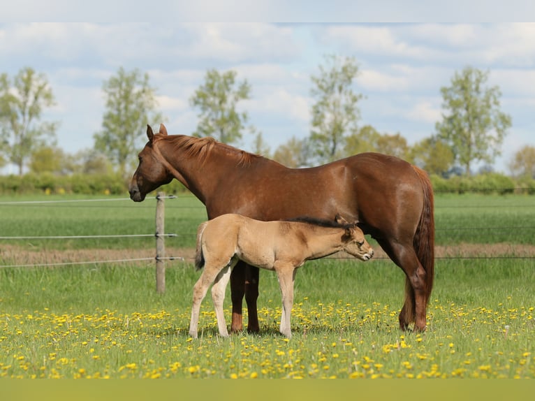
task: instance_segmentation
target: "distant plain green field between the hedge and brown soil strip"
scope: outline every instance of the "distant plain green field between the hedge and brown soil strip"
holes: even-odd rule
[[[91,197],[83,197],[91,199]],[[93,197],[92,199],[101,199]],[[1,234],[24,235],[117,235],[154,233],[156,201],[134,203],[128,198],[73,203],[23,203],[76,200],[73,196],[0,198]],[[108,199],[106,198],[106,199]],[[78,200],[82,198],[78,197]],[[117,200],[119,199],[119,200]],[[122,199],[122,200],[121,200]],[[6,202],[17,201],[15,204]],[[193,247],[198,224],[206,219],[203,205],[193,196],[166,200],[166,232],[176,233],[170,247]],[[534,196],[438,195],[435,199],[437,245],[461,242],[533,244]],[[6,243],[2,240],[1,243]],[[154,247],[151,239],[10,240],[10,244],[47,249]]]

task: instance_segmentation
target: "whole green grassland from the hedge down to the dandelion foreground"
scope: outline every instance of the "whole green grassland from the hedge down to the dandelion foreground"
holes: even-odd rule
[[[4,196],[0,235],[154,233],[150,199],[22,203],[65,198]],[[0,377],[535,378],[534,216],[532,196],[437,196],[437,246],[457,256],[437,258],[425,333],[397,326],[404,277],[390,260],[325,258],[298,271],[291,340],[278,333],[272,272],[261,272],[261,333],[219,337],[207,296],[199,339],[191,340],[191,289],[200,273],[189,258],[166,262],[163,294],[155,291],[154,261],[6,267],[17,265],[17,252],[46,259],[108,249],[128,258],[133,249],[154,249],[154,238],[4,238]],[[193,247],[203,219],[194,198],[166,200],[166,231],[177,233],[166,245]],[[467,245],[478,253],[467,257]],[[225,310],[230,323],[230,289]]]

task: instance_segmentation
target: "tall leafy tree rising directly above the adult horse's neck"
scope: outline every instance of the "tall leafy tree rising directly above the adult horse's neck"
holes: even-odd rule
[[[248,115],[237,111],[237,103],[249,99],[251,86],[247,80],[237,83],[236,75],[235,71],[207,71],[204,85],[189,99],[192,107],[200,109],[194,136],[213,136],[223,143],[236,143],[242,138]]]

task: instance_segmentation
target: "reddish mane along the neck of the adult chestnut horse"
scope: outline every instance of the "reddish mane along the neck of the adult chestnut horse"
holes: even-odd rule
[[[254,159],[262,158],[262,156],[258,154],[245,152],[244,150],[237,149],[226,143],[221,143],[210,136],[196,138],[194,136],[186,135],[169,135],[164,136],[162,139],[171,143],[173,145],[173,150],[177,152],[185,151],[186,156],[195,157],[200,160],[206,159],[210,152],[213,152],[214,148],[226,150],[226,152],[234,154],[237,158],[237,163],[240,165],[248,166]]]

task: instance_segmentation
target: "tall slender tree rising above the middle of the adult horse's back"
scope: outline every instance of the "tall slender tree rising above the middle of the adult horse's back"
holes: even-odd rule
[[[311,90],[316,103],[312,106],[310,140],[319,163],[339,159],[347,134],[355,133],[360,119],[358,101],[362,94],[353,91],[358,64],[352,57],[325,57],[326,66],[312,76]]]

